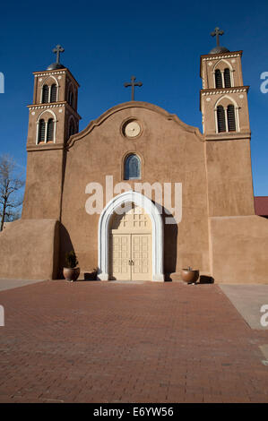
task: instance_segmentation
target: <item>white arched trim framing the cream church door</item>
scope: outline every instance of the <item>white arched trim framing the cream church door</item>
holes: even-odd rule
[[[99,216],[99,262],[98,279],[108,280],[109,277],[109,222],[113,213],[125,203],[133,202],[148,213],[151,219],[151,262],[152,279],[164,281],[163,273],[163,222],[160,211],[148,197],[132,190],[115,196]]]

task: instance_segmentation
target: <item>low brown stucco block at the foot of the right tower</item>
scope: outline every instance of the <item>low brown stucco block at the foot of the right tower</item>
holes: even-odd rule
[[[229,284],[268,283],[268,220],[256,215],[210,218],[212,276]]]

